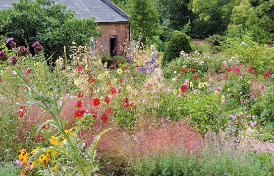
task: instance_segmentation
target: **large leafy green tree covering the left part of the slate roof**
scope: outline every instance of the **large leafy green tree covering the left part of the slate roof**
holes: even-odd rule
[[[25,45],[25,39],[29,46],[39,41],[46,54],[56,57],[63,55],[64,46],[89,44],[91,36],[99,35],[94,18],[77,19],[72,10],[51,0],[21,0],[0,14],[0,34],[13,37],[19,46]]]

